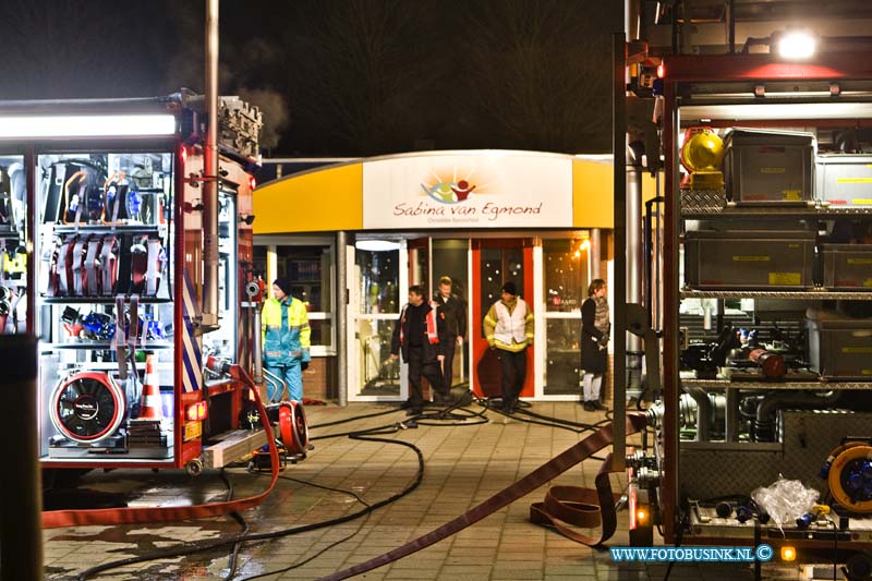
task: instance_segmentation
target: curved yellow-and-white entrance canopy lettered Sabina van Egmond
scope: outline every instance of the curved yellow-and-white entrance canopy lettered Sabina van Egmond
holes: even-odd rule
[[[481,149],[366,158],[259,186],[254,215],[255,234],[610,229],[611,156]]]

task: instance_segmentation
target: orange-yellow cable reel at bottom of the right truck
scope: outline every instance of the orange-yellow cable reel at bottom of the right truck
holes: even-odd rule
[[[852,512],[872,512],[872,446],[839,446],[829,456],[826,480],[833,498]]]

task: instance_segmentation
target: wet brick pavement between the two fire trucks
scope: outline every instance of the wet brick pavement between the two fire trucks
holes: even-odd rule
[[[420,486],[368,515],[332,526],[307,530],[271,541],[223,544],[191,555],[132,562],[88,576],[87,579],[318,579],[393,549],[426,534],[477,506],[586,434],[484,412],[446,420],[422,421],[414,428],[397,428],[403,411],[387,404],[310,407],[312,426],[380,413],[351,423],[313,427],[315,446],[308,457],[282,471],[272,494],[257,508],[231,516],[161,524],[76,526],[44,532],[46,579],[78,579],[83,571],[125,559],[159,556],[180,546],[195,547],[233,538],[247,530],[267,533],[301,528],[362,511],[398,495],[417,476],[415,452],[387,441],[329,437],[349,431],[386,426],[387,440],[420,448],[424,473]],[[593,424],[602,412],[585,412],[571,402],[536,402],[529,408],[565,421]],[[474,415],[472,412],[482,415]],[[485,421],[486,420],[486,421]],[[408,424],[407,424],[408,425]],[[588,432],[589,434],[590,432]],[[630,441],[638,441],[630,438]],[[604,455],[605,452],[600,452]],[[558,476],[554,484],[593,486],[601,461],[589,459]],[[626,479],[613,475],[613,487]],[[77,493],[59,503],[84,503],[99,495],[105,506],[167,506],[225,500],[256,494],[269,483],[268,473],[252,473],[245,464],[205,471],[196,477],[182,471],[94,471],[82,477]],[[335,488],[335,489],[328,489]],[[665,566],[617,566],[607,550],[591,549],[529,522],[531,503],[541,501],[547,485],[489,517],[407,558],[355,579],[399,580],[643,580],[664,579]],[[87,491],[83,493],[82,491]],[[609,546],[628,544],[626,512]],[[594,531],[581,531],[593,533]],[[763,567],[764,579],[801,579],[796,567]],[[669,579],[753,579],[750,566],[676,565]]]

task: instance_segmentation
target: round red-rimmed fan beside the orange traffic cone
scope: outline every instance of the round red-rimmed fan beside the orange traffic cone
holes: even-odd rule
[[[81,444],[114,434],[125,411],[124,390],[108,374],[97,372],[78,372],[62,379],[49,403],[49,417],[58,433]]]

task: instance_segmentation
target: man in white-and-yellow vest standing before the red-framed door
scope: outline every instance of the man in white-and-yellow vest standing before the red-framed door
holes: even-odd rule
[[[484,317],[487,344],[495,350],[502,370],[502,411],[512,413],[526,379],[526,348],[533,344],[533,312],[518,296],[511,280],[500,288],[499,301]]]

